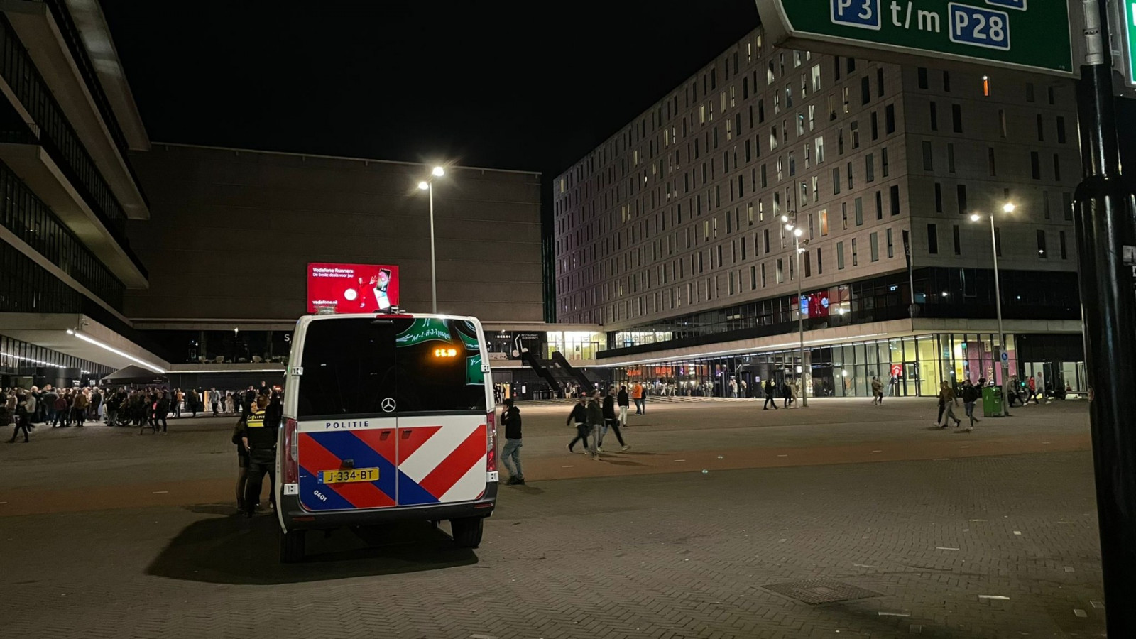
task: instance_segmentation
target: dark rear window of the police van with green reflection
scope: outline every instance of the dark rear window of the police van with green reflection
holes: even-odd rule
[[[308,325],[298,416],[484,413],[473,323],[434,317],[327,318]],[[390,405],[390,403],[387,403]]]

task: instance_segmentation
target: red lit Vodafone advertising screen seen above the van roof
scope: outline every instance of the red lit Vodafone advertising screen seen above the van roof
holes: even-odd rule
[[[308,313],[374,313],[399,304],[399,267],[379,264],[308,264]]]

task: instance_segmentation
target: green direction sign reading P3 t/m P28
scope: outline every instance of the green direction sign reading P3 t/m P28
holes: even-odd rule
[[[1075,70],[1067,0],[757,3],[766,32],[785,47],[894,61],[911,56],[951,59],[1063,76]]]

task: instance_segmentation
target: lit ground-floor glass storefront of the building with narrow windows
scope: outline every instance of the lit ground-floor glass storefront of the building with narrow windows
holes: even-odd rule
[[[1006,335],[1011,376],[1044,375],[1047,383],[1083,390],[1083,362],[1021,362],[1017,341]],[[793,381],[803,368],[809,397],[869,397],[875,376],[889,397],[934,397],[943,381],[954,387],[964,380],[1002,384],[997,347],[997,334],[937,333],[807,347],[804,366],[799,350],[782,349],[615,368],[612,377],[642,383],[652,395],[732,397],[736,389],[738,397],[759,397],[766,380]]]

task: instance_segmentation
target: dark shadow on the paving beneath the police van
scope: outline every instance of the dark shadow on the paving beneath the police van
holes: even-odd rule
[[[382,528],[308,532],[301,564],[278,561],[278,524],[270,514],[247,520],[232,507],[194,506],[211,515],[186,526],[147,566],[147,574],[183,581],[231,584],[301,583],[441,570],[477,563],[469,549],[453,547],[429,522]]]

